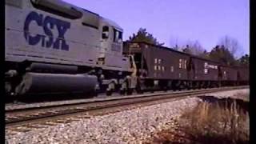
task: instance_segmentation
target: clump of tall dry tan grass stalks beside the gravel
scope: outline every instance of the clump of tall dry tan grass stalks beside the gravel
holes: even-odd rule
[[[249,114],[242,106],[236,100],[202,102],[182,116],[182,130],[199,143],[248,143]]]

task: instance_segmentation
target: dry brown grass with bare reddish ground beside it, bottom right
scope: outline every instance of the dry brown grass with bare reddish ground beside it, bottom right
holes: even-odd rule
[[[203,100],[182,115],[178,130],[164,130],[150,143],[249,143],[248,102],[211,97]]]

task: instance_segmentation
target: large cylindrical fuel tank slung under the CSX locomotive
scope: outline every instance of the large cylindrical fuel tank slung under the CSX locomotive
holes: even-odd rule
[[[85,94],[95,91],[97,77],[87,74],[26,73],[16,94]]]

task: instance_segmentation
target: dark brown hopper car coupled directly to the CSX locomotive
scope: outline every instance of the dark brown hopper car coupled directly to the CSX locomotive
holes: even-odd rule
[[[189,54],[146,42],[126,42],[124,54],[134,54],[140,90],[179,89],[190,80]]]

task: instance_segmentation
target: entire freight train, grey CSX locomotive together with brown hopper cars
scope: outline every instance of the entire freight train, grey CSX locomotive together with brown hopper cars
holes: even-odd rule
[[[6,0],[6,95],[97,94],[247,84],[247,68],[222,66],[145,42],[61,0]]]

